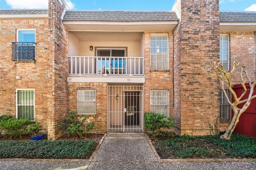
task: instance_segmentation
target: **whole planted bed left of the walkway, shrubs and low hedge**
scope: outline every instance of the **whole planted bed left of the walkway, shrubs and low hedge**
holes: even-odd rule
[[[87,134],[85,139],[82,134],[88,133],[94,126],[94,123],[82,125],[87,118],[70,112],[65,122],[67,133],[60,139],[47,141],[47,134],[44,134],[43,140],[32,141],[30,135],[42,130],[40,122],[1,115],[0,158],[90,158],[103,134]]]

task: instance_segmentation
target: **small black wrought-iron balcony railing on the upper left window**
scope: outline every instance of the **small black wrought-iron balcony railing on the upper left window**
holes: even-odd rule
[[[35,61],[34,42],[12,42],[12,60],[14,61]]]

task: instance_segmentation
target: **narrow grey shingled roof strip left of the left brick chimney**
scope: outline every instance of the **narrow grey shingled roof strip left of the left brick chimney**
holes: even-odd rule
[[[46,15],[48,14],[48,9],[45,10],[0,10],[0,15]]]

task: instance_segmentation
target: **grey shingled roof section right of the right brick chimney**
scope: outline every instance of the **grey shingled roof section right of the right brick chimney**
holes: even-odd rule
[[[220,12],[220,22],[256,22],[256,12]]]

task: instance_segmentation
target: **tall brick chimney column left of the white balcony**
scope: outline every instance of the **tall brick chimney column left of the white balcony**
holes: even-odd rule
[[[61,16],[65,8],[60,0],[49,0],[50,36],[50,116],[48,139],[57,139],[62,135],[59,128],[68,111],[67,74],[68,74],[68,30]]]

